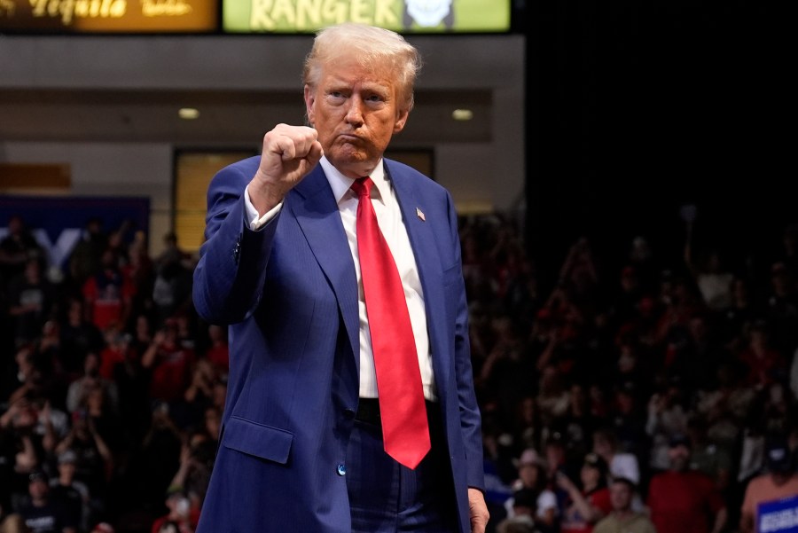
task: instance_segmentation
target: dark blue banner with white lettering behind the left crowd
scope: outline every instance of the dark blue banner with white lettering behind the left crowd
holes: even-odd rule
[[[3,196],[0,197],[0,239],[8,233],[8,221],[20,216],[27,229],[48,255],[51,265],[65,269],[74,245],[86,223],[98,219],[103,231],[117,231],[130,242],[136,231],[149,235],[150,199],[144,197],[96,196]]]

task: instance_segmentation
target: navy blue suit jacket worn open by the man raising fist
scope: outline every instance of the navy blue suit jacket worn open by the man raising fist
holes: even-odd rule
[[[198,533],[349,533],[345,459],[360,353],[355,266],[320,165],[286,195],[278,216],[249,229],[243,192],[259,161],[214,177],[194,272],[196,309],[230,326],[231,346]],[[396,161],[385,166],[419,268],[465,533],[467,488],[481,489],[483,472],[457,217],[439,184]]]

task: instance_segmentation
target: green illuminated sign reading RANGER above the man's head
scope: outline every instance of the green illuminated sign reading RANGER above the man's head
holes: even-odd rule
[[[235,33],[312,33],[340,22],[361,22],[402,33],[500,33],[510,28],[510,0],[222,2],[223,30]]]

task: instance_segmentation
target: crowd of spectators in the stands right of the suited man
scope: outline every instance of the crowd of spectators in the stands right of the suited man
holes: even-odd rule
[[[517,224],[463,224],[493,529],[750,533],[798,497],[798,226],[731,264],[684,222],[575,239],[551,289]]]

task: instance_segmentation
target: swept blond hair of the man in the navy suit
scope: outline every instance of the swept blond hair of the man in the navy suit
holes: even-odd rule
[[[389,29],[346,22],[318,31],[305,58],[302,82],[316,88],[325,65],[341,59],[355,60],[363,67],[388,69],[396,76],[404,108],[413,108],[413,86],[421,69],[421,54]]]

